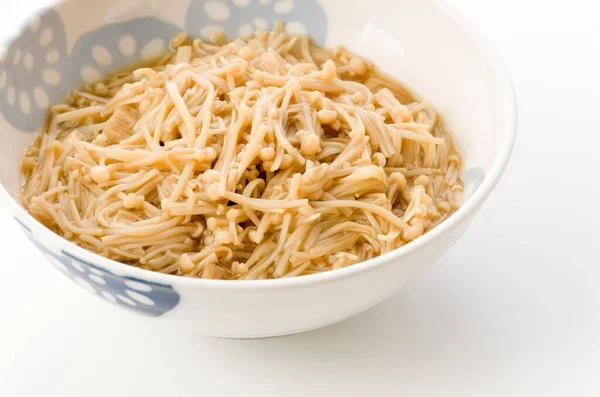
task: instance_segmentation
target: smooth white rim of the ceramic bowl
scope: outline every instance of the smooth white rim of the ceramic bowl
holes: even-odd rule
[[[69,0],[58,0],[52,1],[51,3],[55,6],[60,3],[68,2]],[[342,278],[348,278],[356,276],[362,272],[371,271],[377,267],[383,266],[386,263],[390,263],[395,259],[405,257],[411,253],[423,249],[425,246],[430,245],[435,240],[439,239],[442,235],[447,233],[449,230],[458,227],[459,225],[467,222],[470,217],[474,216],[479,208],[484,204],[489,195],[492,193],[498,182],[500,181],[504,171],[508,166],[514,143],[517,135],[517,98],[514,89],[512,79],[506,64],[498,54],[497,50],[488,40],[488,38],[476,29],[469,21],[467,21],[458,11],[451,6],[442,3],[438,0],[425,0],[439,8],[448,17],[452,18],[457,24],[459,24],[469,36],[475,40],[477,46],[482,50],[486,60],[490,63],[493,73],[495,75],[496,82],[498,83],[498,92],[501,92],[502,98],[505,100],[506,107],[506,127],[503,131],[503,140],[500,145],[498,154],[492,167],[484,178],[483,183],[479,188],[469,197],[465,203],[448,219],[438,225],[435,229],[429,231],[423,236],[419,237],[415,241],[406,244],[398,249],[390,251],[384,255],[375,257],[373,259],[357,263],[355,265],[332,270],[319,274],[312,274],[301,277],[292,278],[280,278],[280,279],[268,279],[268,280],[211,280],[211,279],[200,279],[200,278],[187,278],[183,276],[177,276],[172,274],[163,274],[153,272],[150,270],[141,269],[131,265],[126,265],[114,261],[112,259],[105,258],[99,254],[88,251],[82,247],[75,245],[74,243],[64,239],[63,237],[55,234],[50,229],[46,228],[33,216],[31,216],[18,202],[13,198],[0,183],[0,198],[5,201],[4,207],[8,212],[17,216],[18,219],[26,219],[27,227],[35,229],[36,234],[44,236],[44,240],[56,242],[58,247],[73,252],[78,258],[89,261],[95,265],[98,265],[108,271],[113,272],[115,275],[126,275],[128,277],[134,277],[136,279],[145,280],[158,284],[165,285],[179,285],[188,287],[200,287],[207,289],[222,289],[222,290],[236,290],[241,292],[248,292],[254,290],[274,290],[280,288],[289,288],[292,286],[306,286],[315,285],[325,282],[331,282]]]

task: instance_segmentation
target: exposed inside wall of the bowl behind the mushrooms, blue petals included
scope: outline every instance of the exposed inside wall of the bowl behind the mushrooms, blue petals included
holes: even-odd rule
[[[229,38],[281,19],[319,44],[341,44],[433,101],[464,156],[467,197],[506,139],[511,98],[465,27],[429,0],[66,1],[23,24],[0,55],[0,182],[17,197],[19,161],[47,108],[110,70],[151,58],[184,30]]]

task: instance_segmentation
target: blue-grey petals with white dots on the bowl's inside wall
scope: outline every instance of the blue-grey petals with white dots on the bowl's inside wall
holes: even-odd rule
[[[235,38],[268,29],[277,20],[290,33],[308,33],[317,43],[327,36],[327,15],[317,0],[190,0],[185,30],[210,39],[213,32]],[[0,61],[0,112],[17,130],[40,129],[50,104],[78,85],[100,79],[164,50],[183,28],[148,16],[111,23],[76,40],[69,54],[60,15],[53,9],[27,24]]]

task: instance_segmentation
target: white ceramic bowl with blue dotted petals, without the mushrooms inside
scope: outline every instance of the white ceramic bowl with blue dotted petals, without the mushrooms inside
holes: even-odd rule
[[[296,32],[307,30],[320,44],[342,44],[370,58],[433,100],[464,155],[468,199],[458,212],[365,263],[243,282],[187,279],[105,259],[52,233],[18,203],[21,155],[41,128],[47,105],[70,88],[152,55],[179,30],[202,36],[222,28],[236,36],[276,19]],[[515,96],[502,61],[461,17],[429,0],[370,0],[368,6],[345,0],[67,1],[27,21],[0,64],[0,198],[6,208],[56,266],[90,292],[204,335],[306,331],[390,297],[466,230],[500,179],[515,134]]]

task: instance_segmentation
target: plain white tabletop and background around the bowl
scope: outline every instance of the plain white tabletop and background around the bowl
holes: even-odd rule
[[[1,0],[0,34],[40,3]],[[520,127],[497,191],[432,271],[329,328],[210,339],[85,293],[0,210],[0,395],[600,395],[600,10],[448,3],[504,56]]]

